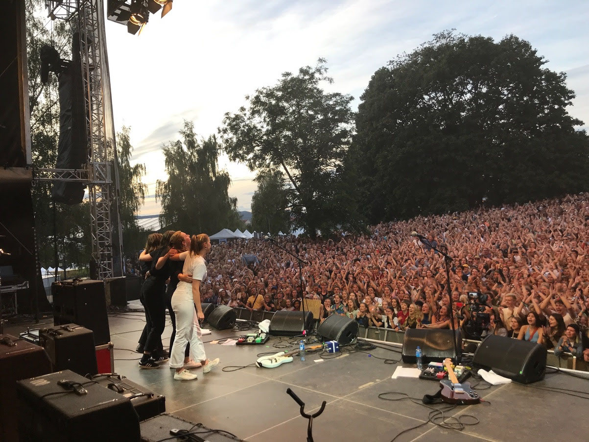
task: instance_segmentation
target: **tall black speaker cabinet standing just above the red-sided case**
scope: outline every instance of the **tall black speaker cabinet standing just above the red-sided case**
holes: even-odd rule
[[[96,345],[110,342],[104,282],[66,280],[51,285],[54,325],[78,324],[94,332]]]

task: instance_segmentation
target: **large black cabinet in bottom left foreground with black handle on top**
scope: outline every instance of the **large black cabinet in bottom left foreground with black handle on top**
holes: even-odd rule
[[[87,393],[76,394],[59,381],[79,382]],[[18,381],[16,392],[21,441],[141,440],[128,398],[70,370]]]

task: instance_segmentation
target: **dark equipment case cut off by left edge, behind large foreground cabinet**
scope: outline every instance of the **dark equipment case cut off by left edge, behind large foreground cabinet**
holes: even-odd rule
[[[16,381],[51,373],[47,352],[38,345],[0,335],[0,440],[18,442]]]

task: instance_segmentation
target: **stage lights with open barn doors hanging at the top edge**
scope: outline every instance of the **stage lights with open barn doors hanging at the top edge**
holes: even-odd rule
[[[172,9],[173,0],[108,0],[107,17],[110,21],[127,25],[129,34],[141,34],[149,15],[161,9],[164,17]]]

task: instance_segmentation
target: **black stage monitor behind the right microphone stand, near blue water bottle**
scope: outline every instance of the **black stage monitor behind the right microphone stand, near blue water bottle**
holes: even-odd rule
[[[403,362],[414,364],[415,349],[421,348],[423,362],[442,362],[446,358],[456,358],[454,343],[452,342],[452,330],[408,328],[403,338],[403,349],[401,358]],[[458,353],[462,354],[462,334],[456,330],[456,347]]]

